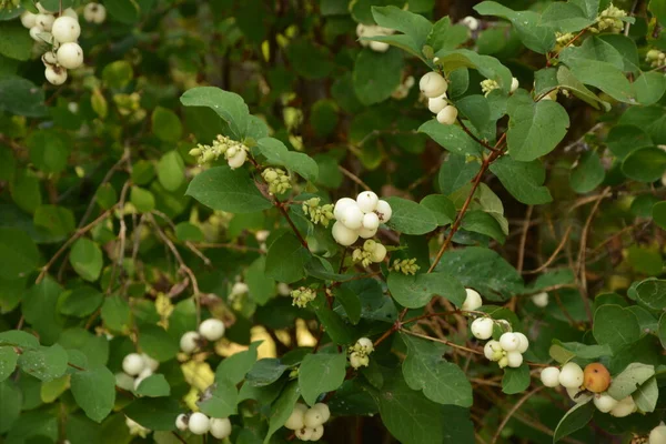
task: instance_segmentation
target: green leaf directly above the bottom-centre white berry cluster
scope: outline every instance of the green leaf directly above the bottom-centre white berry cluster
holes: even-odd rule
[[[299,387],[303,400],[314,405],[322,393],[336,390],[345,376],[345,353],[307,354],[299,369]]]

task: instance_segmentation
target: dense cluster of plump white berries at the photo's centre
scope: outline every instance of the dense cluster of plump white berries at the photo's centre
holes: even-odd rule
[[[341,245],[349,246],[356,242],[359,236],[370,239],[376,234],[380,223],[386,223],[393,211],[386,201],[372,191],[364,191],[356,200],[342,198],[335,202],[332,234]]]

